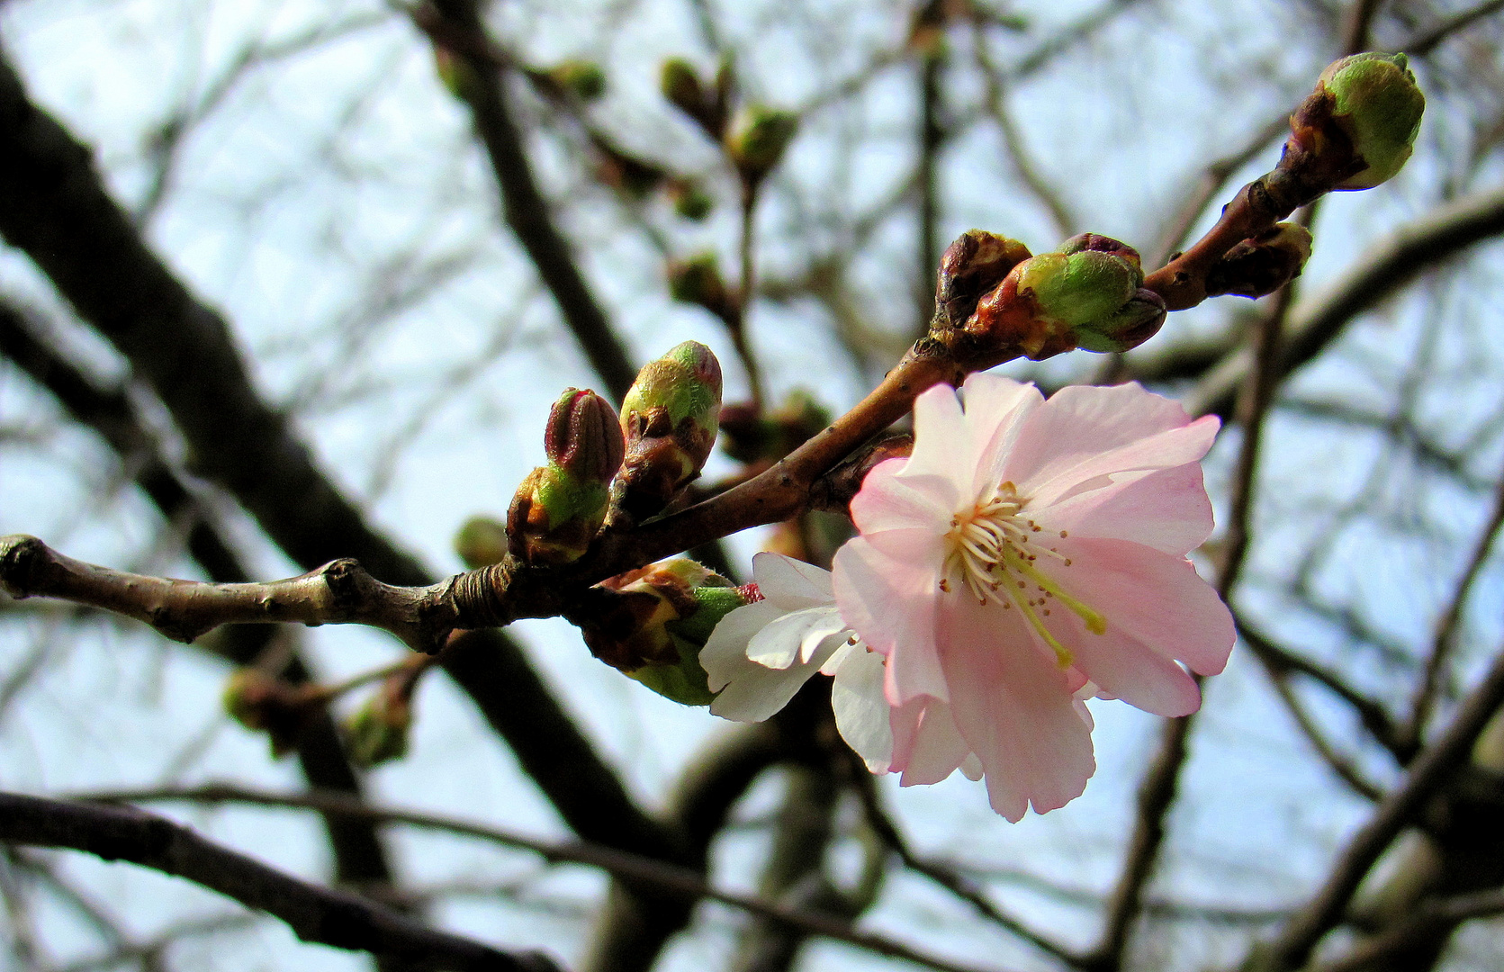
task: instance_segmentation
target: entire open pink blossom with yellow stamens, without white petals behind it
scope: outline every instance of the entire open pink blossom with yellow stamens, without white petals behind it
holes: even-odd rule
[[[1181,716],[1227,664],[1232,617],[1187,554],[1212,528],[1217,435],[1137,384],[972,375],[914,402],[914,451],[872,469],[836,554],[841,617],[886,656],[904,785],[957,767],[1018,820],[1080,796],[1099,694]],[[973,775],[973,773],[969,773]]]

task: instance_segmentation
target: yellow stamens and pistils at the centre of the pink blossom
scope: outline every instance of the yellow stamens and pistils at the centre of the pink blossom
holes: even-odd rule
[[[1020,500],[1012,483],[1003,483],[991,498],[978,503],[969,513],[951,518],[951,531],[946,534],[951,551],[940,590],[949,591],[951,578],[957,578],[978,603],[991,600],[1003,608],[1017,605],[1045,644],[1054,649],[1060,667],[1066,668],[1074,661],[1071,652],[1050,633],[1044,621],[1050,617],[1050,605],[1059,603],[1074,611],[1086,621],[1087,630],[1096,635],[1107,630],[1107,620],[1066,594],[1050,575],[1035,566],[1044,557],[1045,563],[1056,561],[1059,567],[1069,567],[1071,558],[1047,546],[1047,540],[1041,542],[1044,528],[1024,516],[1027,504],[1029,500]],[[1060,536],[1066,536],[1063,530]]]

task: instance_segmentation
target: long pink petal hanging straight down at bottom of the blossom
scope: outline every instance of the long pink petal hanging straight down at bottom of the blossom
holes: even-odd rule
[[[942,664],[957,728],[987,772],[993,809],[1017,822],[1065,806],[1096,770],[1066,676],[1017,608],[946,599]]]

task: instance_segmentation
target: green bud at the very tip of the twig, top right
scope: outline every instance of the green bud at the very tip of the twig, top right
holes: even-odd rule
[[[1364,164],[1336,190],[1373,188],[1405,167],[1426,110],[1405,54],[1343,57],[1321,72],[1316,92],[1333,96],[1331,116]]]

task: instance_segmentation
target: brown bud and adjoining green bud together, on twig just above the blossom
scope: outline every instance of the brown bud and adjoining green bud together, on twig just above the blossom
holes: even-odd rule
[[[972,230],[940,262],[931,337],[964,334],[1039,361],[1074,348],[1128,351],[1164,316],[1164,299],[1143,286],[1139,251],[1126,244],[1081,233],[1029,256],[1018,241]]]

